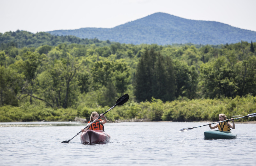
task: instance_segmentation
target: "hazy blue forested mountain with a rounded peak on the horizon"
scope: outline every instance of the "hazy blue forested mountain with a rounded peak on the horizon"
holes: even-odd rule
[[[79,38],[132,44],[230,44],[255,41],[256,32],[216,21],[183,19],[167,13],[154,13],[114,28],[80,28],[49,31],[52,35],[74,35]]]

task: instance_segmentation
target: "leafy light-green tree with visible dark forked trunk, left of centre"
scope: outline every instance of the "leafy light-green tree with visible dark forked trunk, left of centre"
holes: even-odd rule
[[[76,103],[79,86],[77,63],[72,58],[55,60],[37,79],[37,93],[51,107],[68,108]]]

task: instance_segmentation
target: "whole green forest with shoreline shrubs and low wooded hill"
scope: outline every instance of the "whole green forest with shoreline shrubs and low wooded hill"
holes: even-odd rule
[[[256,43],[121,44],[0,33],[0,121],[218,120],[256,110]],[[255,120],[240,119],[240,121]]]

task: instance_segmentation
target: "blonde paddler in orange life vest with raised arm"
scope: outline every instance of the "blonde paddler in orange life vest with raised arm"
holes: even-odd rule
[[[90,117],[90,122],[88,122],[88,124],[92,123],[95,119],[97,119],[99,117],[99,113],[94,111],[91,114]],[[85,132],[87,130],[103,130],[104,131],[104,126],[103,124],[107,123],[107,117],[105,117],[103,114],[100,114],[100,117],[103,118],[104,120],[98,119],[97,121],[95,121],[94,123],[92,123],[90,126],[86,127],[85,129],[82,129],[82,132]]]

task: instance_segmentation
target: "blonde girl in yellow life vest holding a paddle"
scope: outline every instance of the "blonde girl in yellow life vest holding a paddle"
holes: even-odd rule
[[[220,121],[224,121],[224,120],[227,120],[227,117],[225,114],[220,114],[219,115],[219,120]],[[218,129],[220,131],[223,131],[223,132],[230,132],[230,128],[231,129],[235,129],[235,122],[234,122],[234,119],[231,118],[233,124],[231,125],[228,121],[226,122],[220,122],[218,124],[216,124],[215,126],[211,126],[211,124],[209,125],[210,129],[215,129],[218,127]]]

